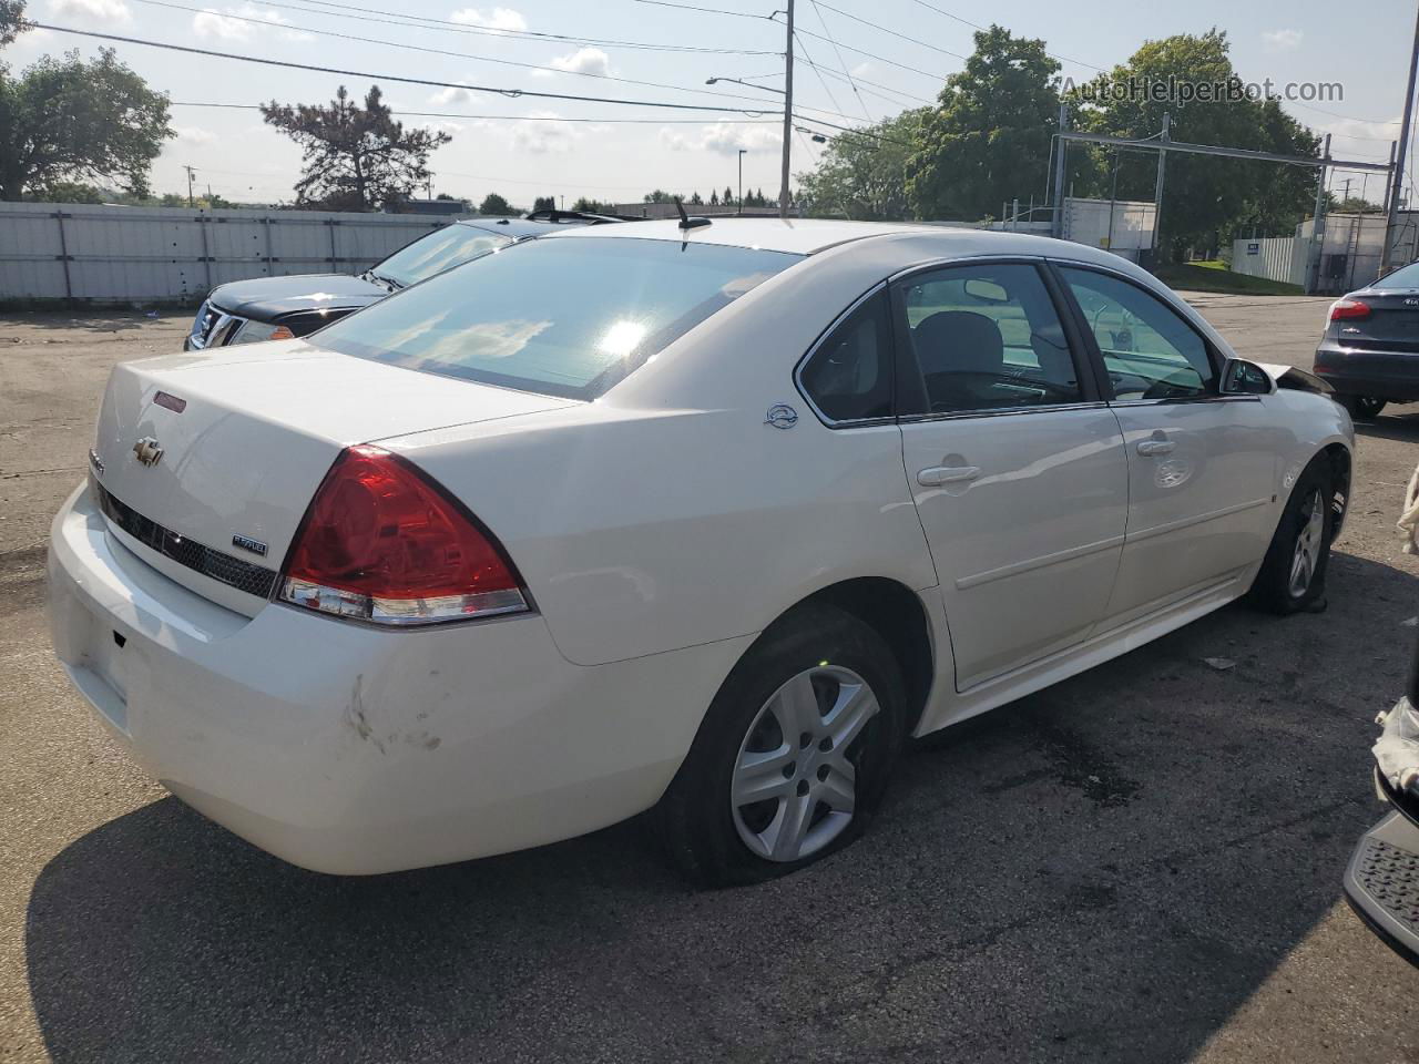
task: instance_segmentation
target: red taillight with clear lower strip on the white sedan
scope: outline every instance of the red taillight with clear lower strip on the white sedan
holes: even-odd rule
[[[377,624],[528,610],[512,562],[438,484],[379,447],[325,474],[281,570],[282,602]]]

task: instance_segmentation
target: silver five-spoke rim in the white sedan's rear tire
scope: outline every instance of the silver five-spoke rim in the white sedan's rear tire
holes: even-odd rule
[[[856,748],[880,709],[866,680],[827,663],[769,697],[729,779],[734,826],[752,853],[797,861],[847,829],[857,804]]]

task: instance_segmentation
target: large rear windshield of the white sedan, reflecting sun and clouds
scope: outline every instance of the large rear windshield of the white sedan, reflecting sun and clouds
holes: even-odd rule
[[[326,326],[343,355],[596,399],[802,255],[667,240],[529,240]]]

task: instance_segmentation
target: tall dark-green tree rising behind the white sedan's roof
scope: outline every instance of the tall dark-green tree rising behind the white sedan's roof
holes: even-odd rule
[[[1020,192],[1043,189],[1059,128],[1060,65],[1044,41],[992,26],[975,34],[965,70],[922,113],[907,159],[920,217],[976,220]]]

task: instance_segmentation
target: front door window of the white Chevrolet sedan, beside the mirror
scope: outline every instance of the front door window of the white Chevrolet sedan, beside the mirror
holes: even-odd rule
[[[1189,399],[1215,390],[1202,336],[1171,306],[1108,274],[1060,270],[1104,355],[1118,399]]]

